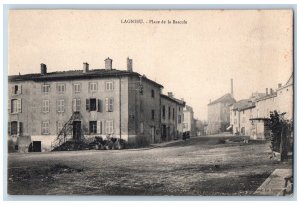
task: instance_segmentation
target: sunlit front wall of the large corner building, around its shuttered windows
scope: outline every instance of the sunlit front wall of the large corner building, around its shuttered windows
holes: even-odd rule
[[[113,90],[106,90],[105,83],[113,82]],[[97,91],[89,90],[89,83],[97,84]],[[48,82],[33,82],[23,81],[22,93],[13,95],[11,89],[16,84],[9,83],[9,100],[22,99],[22,112],[10,114],[9,121],[23,122],[23,134],[30,135],[32,141],[42,141],[42,149],[48,150],[51,147],[51,142],[58,134],[58,122],[66,123],[72,116],[72,100],[80,99],[80,114],[82,131],[84,135],[89,134],[89,121],[100,121],[102,129],[99,127],[97,136],[106,137],[105,131],[106,120],[113,120],[112,135],[127,140],[128,139],[128,78],[107,78],[107,79],[91,79],[91,80],[64,80],[64,81],[48,81]],[[73,90],[74,84],[81,85],[81,91],[75,93]],[[42,93],[42,85],[49,84],[50,92]],[[57,84],[65,85],[65,92],[59,94]],[[121,90],[120,90],[121,87]],[[120,92],[121,91],[121,98]],[[102,110],[87,111],[86,99],[96,98],[101,100]],[[105,98],[113,98],[113,111],[107,112],[105,106]],[[121,101],[120,101],[121,99]],[[48,100],[50,103],[50,111],[42,112],[42,102]],[[57,100],[64,100],[64,112],[57,111]],[[120,120],[121,113],[121,120]],[[49,134],[42,134],[42,122],[49,122]],[[120,121],[122,122],[121,130]]]

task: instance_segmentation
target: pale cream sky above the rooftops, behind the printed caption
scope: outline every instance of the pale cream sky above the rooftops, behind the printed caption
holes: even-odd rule
[[[107,57],[125,70],[130,57],[135,72],[184,98],[201,120],[231,78],[241,100],[284,84],[293,70],[291,10],[11,10],[8,38],[10,75],[38,73],[41,63],[48,72],[104,68]]]

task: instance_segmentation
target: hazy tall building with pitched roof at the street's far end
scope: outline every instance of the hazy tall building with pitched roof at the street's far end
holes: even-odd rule
[[[208,125],[206,134],[217,134],[225,132],[230,126],[230,108],[235,103],[232,94],[227,93],[219,99],[208,104]]]

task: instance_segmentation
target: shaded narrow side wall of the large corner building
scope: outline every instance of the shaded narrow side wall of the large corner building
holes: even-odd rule
[[[140,92],[142,85],[142,93]],[[152,97],[152,90],[154,97]],[[161,89],[137,77],[129,77],[128,84],[128,142],[149,144],[160,142]],[[152,110],[154,119],[152,119]]]

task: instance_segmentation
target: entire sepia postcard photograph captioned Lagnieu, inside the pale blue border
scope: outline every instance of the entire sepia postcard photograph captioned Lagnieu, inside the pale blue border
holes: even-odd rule
[[[293,22],[10,10],[7,194],[293,196]]]

